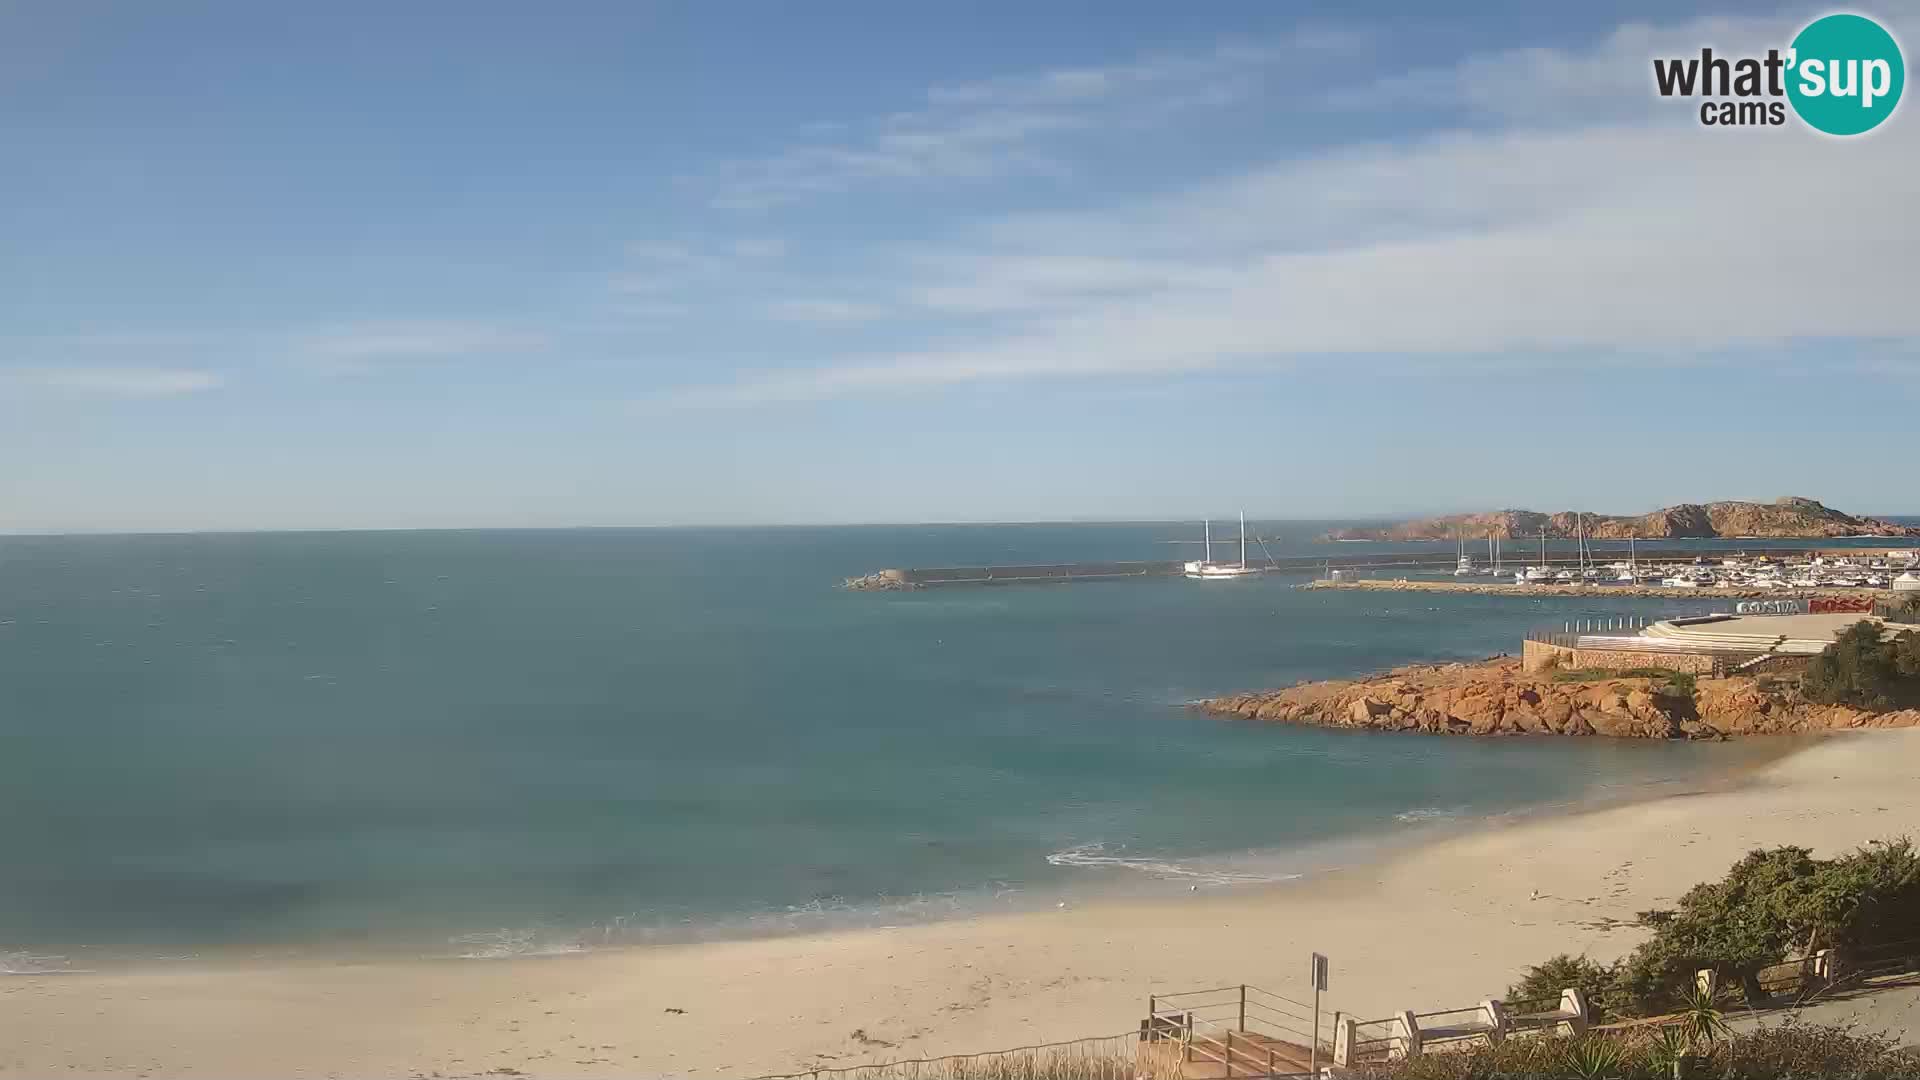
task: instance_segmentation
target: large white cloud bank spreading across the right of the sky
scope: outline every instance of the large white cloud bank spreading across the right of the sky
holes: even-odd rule
[[[1734,33],[1747,23],[1724,23],[1722,40],[1751,38]],[[1586,88],[1567,71],[1624,63],[1638,79],[1649,58],[1632,42],[1655,38],[1668,48],[1684,33],[1620,31],[1590,52],[1526,54],[1542,73],[1540,115],[1561,100],[1563,117],[1582,117]],[[1480,71],[1469,58],[1455,81]],[[1340,148],[1131,208],[987,223],[970,248],[908,259],[900,290],[929,309],[1016,317],[1012,329],[674,400],[1327,356],[1446,371],[1488,357],[1551,365],[1632,352],[1684,363],[1824,338],[1910,342],[1914,175],[1920,115],[1845,142],[1797,123],[1713,131],[1642,117]]]

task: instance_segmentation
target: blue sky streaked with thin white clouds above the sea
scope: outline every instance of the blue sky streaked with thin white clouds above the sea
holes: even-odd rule
[[[0,530],[1914,513],[1824,12],[0,0]]]

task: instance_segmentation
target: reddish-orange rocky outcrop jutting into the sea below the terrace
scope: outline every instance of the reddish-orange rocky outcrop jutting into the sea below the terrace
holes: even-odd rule
[[[1555,682],[1515,657],[1411,665],[1350,680],[1229,694],[1196,709],[1283,724],[1473,736],[1730,738],[1920,726],[1920,709],[1812,705],[1778,680],[1667,678]]]

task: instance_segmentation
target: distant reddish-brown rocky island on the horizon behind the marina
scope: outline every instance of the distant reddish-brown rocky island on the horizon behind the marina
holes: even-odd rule
[[[1590,540],[1640,538],[1822,538],[1822,536],[1920,536],[1920,527],[1895,525],[1878,517],[1853,517],[1816,500],[1782,498],[1766,502],[1680,503],[1642,515],[1609,515],[1588,511],[1538,513],[1532,509],[1494,509],[1486,513],[1452,513],[1423,517],[1379,528],[1338,528],[1329,540],[1453,540],[1455,536],[1503,540],[1572,538],[1584,532]]]

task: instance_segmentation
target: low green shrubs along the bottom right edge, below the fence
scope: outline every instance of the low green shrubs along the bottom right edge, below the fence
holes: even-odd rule
[[[1682,1068],[1674,1063],[1682,1061]],[[1505,1040],[1459,1053],[1423,1053],[1354,1070],[1361,1080],[1920,1080],[1920,1053],[1885,1036],[1832,1024],[1755,1028],[1713,1043],[1676,1028]]]

